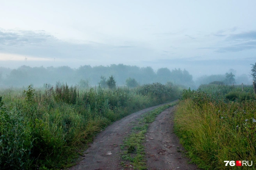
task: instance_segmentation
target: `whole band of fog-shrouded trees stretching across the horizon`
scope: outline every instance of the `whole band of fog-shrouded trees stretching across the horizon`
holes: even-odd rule
[[[232,75],[228,80],[227,75]],[[0,87],[49,87],[61,84],[68,84],[83,88],[91,88],[99,84],[107,88],[102,83],[110,76],[114,76],[117,86],[127,86],[127,79],[134,79],[138,85],[159,82],[166,84],[171,82],[174,85],[181,85],[183,88],[196,89],[201,84],[218,82],[218,84],[231,85],[242,83],[251,85],[252,80],[246,74],[238,74],[235,69],[229,69],[228,72],[219,75],[203,75],[193,79],[186,69],[159,68],[156,71],[150,67],[138,67],[124,64],[111,64],[110,66],[90,66],[84,65],[79,68],[70,68],[69,66],[59,67],[30,67],[20,66],[17,69],[0,67]]]

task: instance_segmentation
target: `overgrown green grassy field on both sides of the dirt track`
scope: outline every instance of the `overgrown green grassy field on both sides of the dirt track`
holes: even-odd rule
[[[224,161],[256,160],[256,99],[251,86],[242,91],[240,86],[212,84],[182,92],[181,87],[172,83],[112,90],[100,86],[78,89],[62,84],[2,89],[0,96],[1,169],[71,167],[86,144],[114,121],[178,98],[174,132],[199,168],[230,169]],[[140,134],[141,139],[145,140],[145,133],[144,130]],[[129,148],[128,140],[129,136],[122,147]],[[146,154],[143,149],[138,151],[139,156]],[[130,160],[135,169],[147,168],[145,158],[135,164],[137,161],[129,154],[122,159],[126,157],[124,165],[129,165]]]

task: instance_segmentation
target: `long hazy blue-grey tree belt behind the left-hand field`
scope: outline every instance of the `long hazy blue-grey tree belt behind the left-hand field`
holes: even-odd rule
[[[44,83],[54,85],[55,82],[66,82],[69,86],[78,83],[79,88],[90,88],[100,83],[102,88],[107,88],[106,82],[108,76],[115,77],[116,84],[125,85],[126,79],[131,77],[138,81],[139,84],[148,84],[160,82],[165,84],[173,82],[176,85],[183,84],[186,88],[194,89],[192,75],[186,70],[160,68],[155,71],[151,67],[128,66],[124,64],[111,64],[110,66],[80,66],[72,69],[68,66],[61,67],[30,67],[21,66],[17,69],[1,68],[3,76],[0,80],[1,87],[23,87],[28,83],[33,83],[34,87],[40,87]],[[102,78],[99,80],[99,78]],[[80,82],[83,80],[82,82]],[[89,80],[89,81],[88,81]]]

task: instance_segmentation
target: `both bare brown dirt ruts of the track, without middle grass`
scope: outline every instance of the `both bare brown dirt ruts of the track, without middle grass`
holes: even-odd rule
[[[160,105],[158,105],[160,106]],[[69,170],[133,170],[131,165],[120,165],[120,145],[124,137],[136,126],[140,115],[158,106],[143,109],[114,122],[96,136],[93,143],[80,157],[80,161]],[[175,107],[175,106],[174,106]],[[184,157],[183,147],[173,133],[174,107],[160,113],[149,125],[146,134],[145,153],[149,170],[196,170]]]

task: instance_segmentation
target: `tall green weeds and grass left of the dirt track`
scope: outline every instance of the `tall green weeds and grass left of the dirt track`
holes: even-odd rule
[[[112,77],[112,78],[111,78]],[[72,165],[85,144],[103,128],[124,116],[173,101],[182,88],[167,83],[136,88],[55,87],[0,91],[0,168],[2,170],[60,169]],[[132,81],[131,81],[132,82]],[[88,82],[82,81],[84,87]]]

